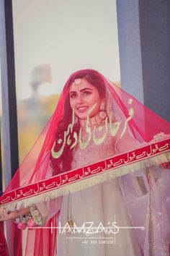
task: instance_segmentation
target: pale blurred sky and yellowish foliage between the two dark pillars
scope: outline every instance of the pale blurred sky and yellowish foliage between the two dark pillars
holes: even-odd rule
[[[116,1],[14,0],[19,162],[58,102],[69,75],[93,68],[120,81]]]

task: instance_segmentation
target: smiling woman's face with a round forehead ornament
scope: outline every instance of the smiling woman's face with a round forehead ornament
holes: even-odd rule
[[[76,79],[72,83],[69,92],[71,108],[75,109],[76,116],[79,119],[86,119],[88,111],[97,103],[89,116],[96,116],[100,111],[102,99],[99,96],[97,88],[84,79]]]

